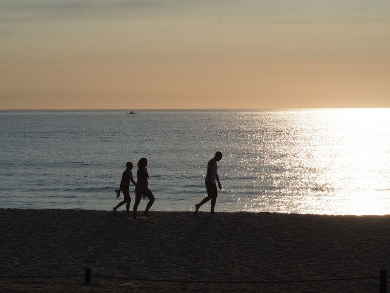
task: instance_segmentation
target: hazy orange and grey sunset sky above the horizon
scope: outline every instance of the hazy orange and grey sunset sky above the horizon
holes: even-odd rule
[[[390,107],[389,0],[1,0],[0,109]]]

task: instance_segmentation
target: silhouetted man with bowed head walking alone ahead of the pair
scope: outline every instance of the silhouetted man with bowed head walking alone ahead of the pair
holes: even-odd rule
[[[198,212],[198,209],[209,200],[211,200],[211,212],[214,213],[214,207],[216,202],[216,197],[218,196],[218,192],[216,189],[215,180],[218,183],[218,188],[222,189],[222,185],[219,182],[217,169],[218,166],[216,162],[219,162],[222,159],[222,153],[217,151],[213,159],[209,161],[207,164],[207,173],[205,178],[207,197],[205,197],[200,203],[195,205],[195,213]]]

